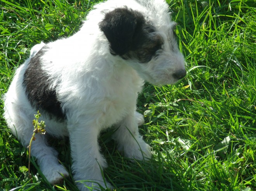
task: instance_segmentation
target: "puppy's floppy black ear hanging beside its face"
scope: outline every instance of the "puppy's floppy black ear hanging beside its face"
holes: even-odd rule
[[[134,36],[142,30],[144,23],[144,16],[140,12],[117,8],[105,15],[99,27],[110,43],[111,53],[122,56],[131,49]]]

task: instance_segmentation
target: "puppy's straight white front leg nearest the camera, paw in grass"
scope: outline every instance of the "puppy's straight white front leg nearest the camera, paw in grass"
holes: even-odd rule
[[[107,167],[106,160],[100,153],[98,136],[100,128],[95,124],[69,124],[71,155],[73,159],[72,171],[77,186],[81,191],[111,188],[102,177],[102,170]]]

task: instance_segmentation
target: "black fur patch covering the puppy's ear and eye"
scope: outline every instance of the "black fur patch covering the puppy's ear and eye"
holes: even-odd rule
[[[109,41],[111,53],[123,59],[148,62],[163,45],[161,36],[144,16],[126,7],[108,12],[99,27]]]

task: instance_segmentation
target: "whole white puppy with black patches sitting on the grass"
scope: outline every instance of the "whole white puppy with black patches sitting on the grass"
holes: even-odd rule
[[[186,75],[175,26],[164,0],[108,0],[94,7],[73,36],[35,45],[4,97],[12,133],[27,147],[39,110],[48,135],[69,136],[74,179],[111,188],[100,171],[107,164],[99,133],[112,126],[126,157],[151,157],[138,132],[144,119],[136,101],[144,80],[173,84]],[[50,183],[68,176],[46,136],[36,135],[31,155]],[[84,184],[78,183],[80,190],[87,190]]]

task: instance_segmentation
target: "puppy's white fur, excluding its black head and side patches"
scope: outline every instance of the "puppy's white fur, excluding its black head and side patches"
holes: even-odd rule
[[[104,12],[124,5],[141,12],[163,37],[164,51],[157,59],[141,64],[109,52],[109,43],[98,23],[104,18]],[[150,146],[138,133],[138,125],[144,123],[144,119],[136,111],[137,95],[144,80],[173,84],[177,80],[172,74],[184,69],[184,58],[170,33],[173,25],[168,5],[163,0],[108,0],[95,6],[76,34],[47,44],[50,49],[43,56],[43,68],[50,76],[51,87],[56,89],[62,109],[67,109],[68,113],[67,120],[61,123],[47,116],[40,119],[45,121],[48,135],[70,137],[76,181],[97,186],[97,183],[86,182],[90,180],[111,188],[110,184],[103,183],[100,168],[107,167],[107,163],[97,142],[100,131],[110,126],[117,128],[113,138],[126,157],[150,159]],[[7,124],[24,147],[31,139],[36,110],[27,100],[22,80],[29,60],[44,45],[37,44],[31,49],[30,57],[17,69],[4,98]],[[37,158],[50,183],[59,182],[62,175],[68,176],[58,163],[56,151],[47,145],[45,136],[36,135],[31,154]],[[82,183],[78,183],[78,187],[88,190]]]

